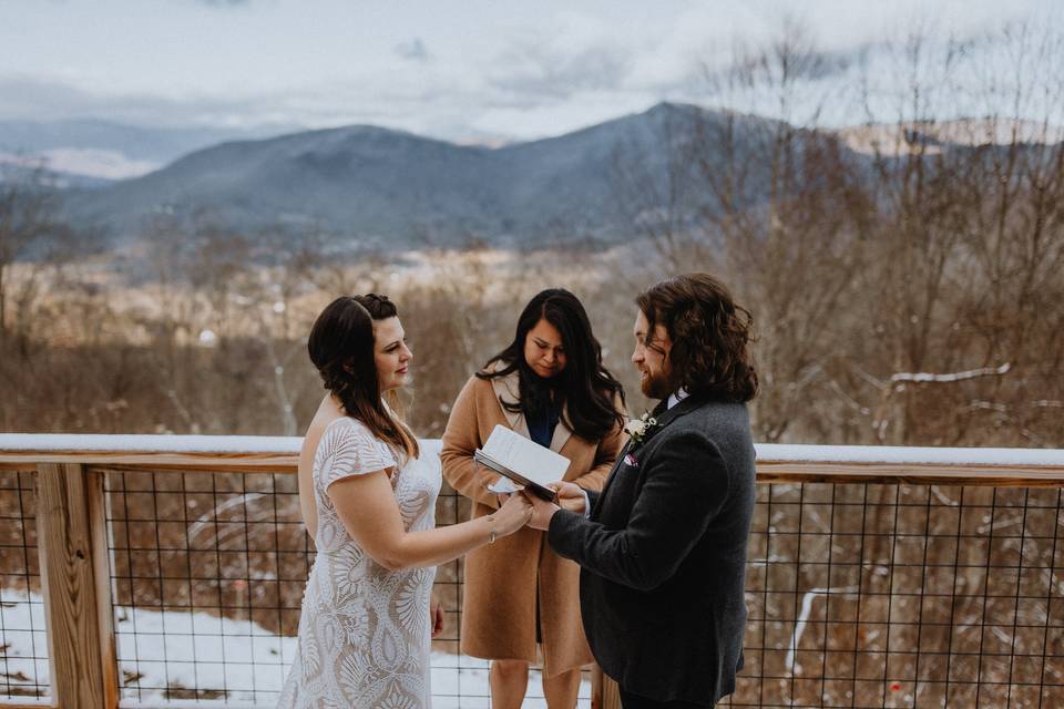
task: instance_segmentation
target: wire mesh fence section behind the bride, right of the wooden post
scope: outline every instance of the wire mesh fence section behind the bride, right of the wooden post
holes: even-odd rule
[[[296,476],[110,471],[105,489],[121,698],[274,703],[314,563]],[[468,508],[446,487],[437,522]],[[447,626],[431,680],[444,709],[489,705],[488,662],[459,654],[461,578],[461,561],[438,568]],[[545,706],[538,670],[529,685],[529,706]]]

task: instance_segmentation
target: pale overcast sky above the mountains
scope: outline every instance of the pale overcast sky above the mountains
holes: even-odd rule
[[[447,138],[556,135],[661,100],[798,18],[847,52],[1054,0],[0,0],[0,119],[372,123]],[[1055,14],[1054,14],[1055,13]]]

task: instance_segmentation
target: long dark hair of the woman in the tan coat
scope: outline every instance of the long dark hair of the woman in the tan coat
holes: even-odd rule
[[[524,359],[524,340],[540,320],[557,329],[565,349],[565,368],[548,380],[536,376]],[[524,306],[513,341],[489,359],[477,377],[497,379],[513,372],[519,374],[520,401],[500,397],[499,403],[507,411],[528,414],[549,405],[553,391],[555,404],[565,404],[565,424],[584,440],[597,441],[624,425],[625,415],[617,410],[618,399],[623,409],[624,389],[602,363],[602,347],[592,332],[587,311],[564,288],[548,288]]]

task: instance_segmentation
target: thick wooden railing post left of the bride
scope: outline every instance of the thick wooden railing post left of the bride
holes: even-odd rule
[[[86,479],[82,465],[69,463],[41,463],[37,470],[52,699],[62,709],[112,709],[117,706],[117,684],[102,477]],[[109,637],[101,635],[102,629]]]

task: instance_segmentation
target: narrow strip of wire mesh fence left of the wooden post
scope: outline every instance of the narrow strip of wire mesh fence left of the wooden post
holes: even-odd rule
[[[0,696],[48,697],[33,474],[0,471]]]

